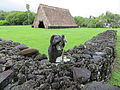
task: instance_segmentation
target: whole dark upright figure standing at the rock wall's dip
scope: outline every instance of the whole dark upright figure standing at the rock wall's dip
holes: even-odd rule
[[[48,48],[49,60],[51,63],[55,63],[56,59],[63,53],[66,40],[64,35],[52,35],[50,40],[50,46]]]

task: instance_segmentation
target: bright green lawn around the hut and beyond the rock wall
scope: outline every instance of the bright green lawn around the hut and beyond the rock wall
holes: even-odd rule
[[[47,54],[50,37],[53,34],[64,34],[68,43],[65,49],[73,48],[83,44],[97,34],[110,30],[108,28],[74,28],[74,29],[40,29],[31,28],[31,26],[0,26],[0,38],[4,40],[12,40],[26,44],[31,48],[38,49],[41,53]],[[117,40],[117,58],[115,70],[112,79],[108,82],[113,85],[120,86],[120,28]]]

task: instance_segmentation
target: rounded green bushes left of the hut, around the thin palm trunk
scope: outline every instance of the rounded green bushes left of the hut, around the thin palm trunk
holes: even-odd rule
[[[11,24],[11,25],[27,25],[27,17],[28,13],[27,12],[11,12],[7,17],[6,20]],[[34,20],[35,14],[29,11],[29,23],[32,24]]]

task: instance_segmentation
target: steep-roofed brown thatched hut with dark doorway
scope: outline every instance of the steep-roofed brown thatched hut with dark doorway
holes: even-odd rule
[[[32,27],[75,28],[77,25],[68,9],[40,4]]]

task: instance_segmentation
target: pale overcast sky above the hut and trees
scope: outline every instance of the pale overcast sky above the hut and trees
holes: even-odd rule
[[[106,11],[120,14],[120,0],[0,0],[0,10],[26,11],[26,4],[35,13],[39,4],[47,4],[67,8],[73,16],[99,16]]]

